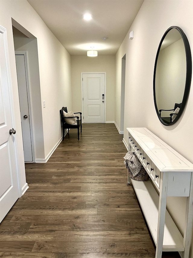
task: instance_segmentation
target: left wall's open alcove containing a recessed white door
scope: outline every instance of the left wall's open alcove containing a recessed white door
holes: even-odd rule
[[[36,162],[43,141],[37,38],[12,19],[24,161]],[[41,140],[42,139],[42,140]]]

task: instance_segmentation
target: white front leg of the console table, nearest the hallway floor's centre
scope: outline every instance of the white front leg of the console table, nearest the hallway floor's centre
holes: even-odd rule
[[[168,188],[168,172],[162,173],[160,180],[160,198],[159,198],[159,212],[158,212],[158,225],[157,225],[157,244],[155,258],[162,257],[163,249],[163,234],[166,216],[166,200]]]

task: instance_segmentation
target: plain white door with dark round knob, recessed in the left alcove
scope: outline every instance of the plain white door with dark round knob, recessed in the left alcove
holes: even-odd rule
[[[24,161],[33,162],[32,155],[32,140],[30,130],[30,116],[29,116],[29,105],[28,105],[28,76],[27,76],[27,60],[24,54],[17,54],[15,52],[15,61],[17,68],[17,82],[19,90],[19,103],[20,103],[20,114],[21,114],[21,127],[24,145]]]

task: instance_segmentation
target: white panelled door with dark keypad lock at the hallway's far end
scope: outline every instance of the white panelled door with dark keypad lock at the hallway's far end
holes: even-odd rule
[[[105,73],[83,73],[83,121],[105,122]]]

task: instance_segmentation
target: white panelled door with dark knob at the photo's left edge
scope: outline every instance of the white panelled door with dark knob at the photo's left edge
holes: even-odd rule
[[[11,119],[10,88],[7,35],[5,28],[0,26],[0,222],[17,201],[17,161],[15,154],[15,136]]]

